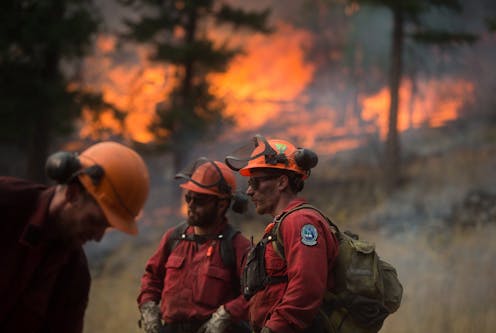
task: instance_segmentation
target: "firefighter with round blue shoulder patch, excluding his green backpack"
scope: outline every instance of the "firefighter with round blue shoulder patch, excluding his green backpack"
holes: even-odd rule
[[[328,271],[337,257],[338,242],[317,211],[302,208],[285,214],[306,203],[298,193],[317,161],[311,150],[261,135],[226,157],[231,169],[249,177],[246,193],[257,213],[273,219],[244,267],[242,288],[254,332],[325,330],[318,310],[325,291],[334,285]],[[274,246],[277,237],[282,238],[283,254]]]

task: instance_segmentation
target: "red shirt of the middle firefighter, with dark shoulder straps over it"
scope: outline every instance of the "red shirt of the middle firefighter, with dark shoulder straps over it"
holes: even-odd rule
[[[225,225],[217,233],[221,233]],[[138,304],[161,301],[162,317],[166,323],[205,320],[220,305],[224,305],[235,320],[247,320],[248,305],[240,295],[239,280],[241,263],[250,242],[236,234],[232,239],[236,266],[225,267],[218,240],[207,240],[203,244],[179,241],[169,253],[165,245],[172,231],[165,233],[157,251],[146,264]],[[193,234],[193,227],[188,227],[186,234]]]

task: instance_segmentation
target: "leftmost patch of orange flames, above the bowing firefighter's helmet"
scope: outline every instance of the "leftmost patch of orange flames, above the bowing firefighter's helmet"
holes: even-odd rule
[[[97,123],[92,123],[93,112],[84,110],[80,135],[96,138],[100,134],[98,129],[103,127],[135,141],[152,141],[148,126],[156,105],[167,97],[173,86],[174,69],[151,63],[149,52],[144,47],[133,49],[133,56],[137,59],[114,61],[112,55],[116,43],[112,36],[100,36],[96,45],[96,55],[85,61],[87,85],[102,91],[104,100],[127,111],[127,117],[121,126],[111,111],[105,111]]]

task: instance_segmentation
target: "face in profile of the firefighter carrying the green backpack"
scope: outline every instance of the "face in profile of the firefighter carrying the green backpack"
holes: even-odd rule
[[[258,214],[273,214],[279,201],[277,174],[269,174],[263,170],[253,170],[248,180],[246,194],[251,197]]]

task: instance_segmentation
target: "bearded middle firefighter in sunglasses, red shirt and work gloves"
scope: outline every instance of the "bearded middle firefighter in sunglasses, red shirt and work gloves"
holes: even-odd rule
[[[142,326],[146,333],[242,333],[249,328],[240,274],[250,242],[226,217],[231,202],[243,207],[233,196],[235,175],[200,158],[176,178],[186,180],[187,220],[165,232],[146,264],[137,300]]]

